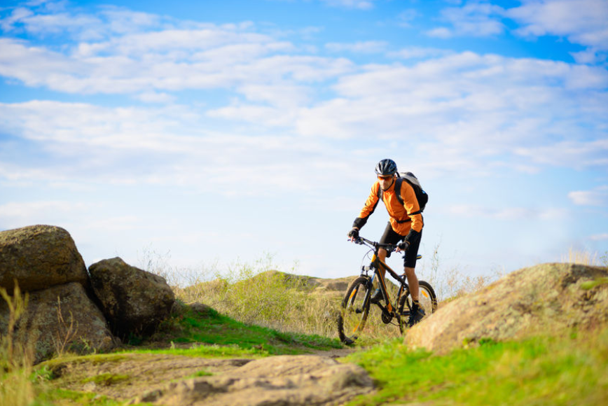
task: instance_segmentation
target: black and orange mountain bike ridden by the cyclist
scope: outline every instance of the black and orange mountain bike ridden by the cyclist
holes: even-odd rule
[[[376,277],[378,277],[378,288],[382,292],[382,299],[376,303],[382,311],[382,322],[399,325],[399,331],[403,334],[407,318],[412,310],[412,297],[408,283],[406,283],[406,276],[396,274],[386,262],[378,258],[378,250],[380,248],[385,248],[387,252],[392,252],[397,248],[396,245],[380,244],[363,237],[357,237],[357,239],[354,239],[354,243],[367,246],[370,248],[368,254],[372,253],[372,255],[370,264],[361,267],[361,274],[350,283],[342,300],[338,316],[338,335],[340,336],[340,341],[345,344],[353,344],[354,340],[359,337],[359,333],[364,329],[371,304],[373,304],[370,299],[373,294],[373,283]],[[417,258],[422,258],[422,255],[418,255]],[[389,295],[385,276],[382,276],[378,272],[380,266],[386,269],[390,276],[397,281],[398,289],[396,295],[394,295],[394,300],[391,300]],[[420,286],[418,293],[420,306],[424,309],[425,314],[434,313],[437,309],[435,290],[427,281],[419,280],[418,285]]]

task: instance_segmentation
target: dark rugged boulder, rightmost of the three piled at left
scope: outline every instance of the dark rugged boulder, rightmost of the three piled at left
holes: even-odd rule
[[[119,337],[151,334],[170,315],[175,296],[161,276],[120,258],[96,262],[89,273],[102,311]]]

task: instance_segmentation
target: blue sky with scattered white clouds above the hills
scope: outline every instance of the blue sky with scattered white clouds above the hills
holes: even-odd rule
[[[607,57],[605,0],[3,1],[0,230],[347,276],[393,158],[430,196],[421,268],[602,255]]]

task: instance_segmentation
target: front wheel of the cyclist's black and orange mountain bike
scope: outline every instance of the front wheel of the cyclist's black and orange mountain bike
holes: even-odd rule
[[[369,314],[371,283],[366,276],[359,276],[350,283],[342,300],[338,316],[338,335],[344,344],[352,344],[363,330]]]

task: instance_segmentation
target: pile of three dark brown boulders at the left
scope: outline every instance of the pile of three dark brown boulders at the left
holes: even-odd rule
[[[91,271],[93,279],[63,228],[0,232],[0,288],[13,295],[17,281],[29,295],[13,342],[32,350],[36,361],[61,351],[106,351],[118,343],[113,332],[150,333],[169,316],[174,295],[160,276],[120,258],[97,262]],[[9,317],[8,303],[0,299],[0,337],[8,334]]]

